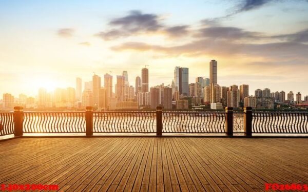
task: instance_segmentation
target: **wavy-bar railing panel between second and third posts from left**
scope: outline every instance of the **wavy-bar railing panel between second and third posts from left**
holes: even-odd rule
[[[156,133],[156,112],[94,112],[93,133]]]

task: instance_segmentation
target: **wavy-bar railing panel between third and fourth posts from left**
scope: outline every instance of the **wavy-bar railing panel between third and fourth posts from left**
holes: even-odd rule
[[[225,113],[163,112],[163,133],[225,133]]]

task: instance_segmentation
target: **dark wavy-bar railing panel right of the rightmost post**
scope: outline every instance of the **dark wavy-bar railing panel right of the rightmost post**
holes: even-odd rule
[[[308,113],[253,113],[253,133],[308,134]]]

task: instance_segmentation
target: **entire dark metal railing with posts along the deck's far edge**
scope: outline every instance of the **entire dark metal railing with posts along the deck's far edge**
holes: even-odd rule
[[[23,133],[308,134],[308,113],[299,112],[23,112],[0,113],[0,136]],[[2,137],[4,138],[4,137]]]

